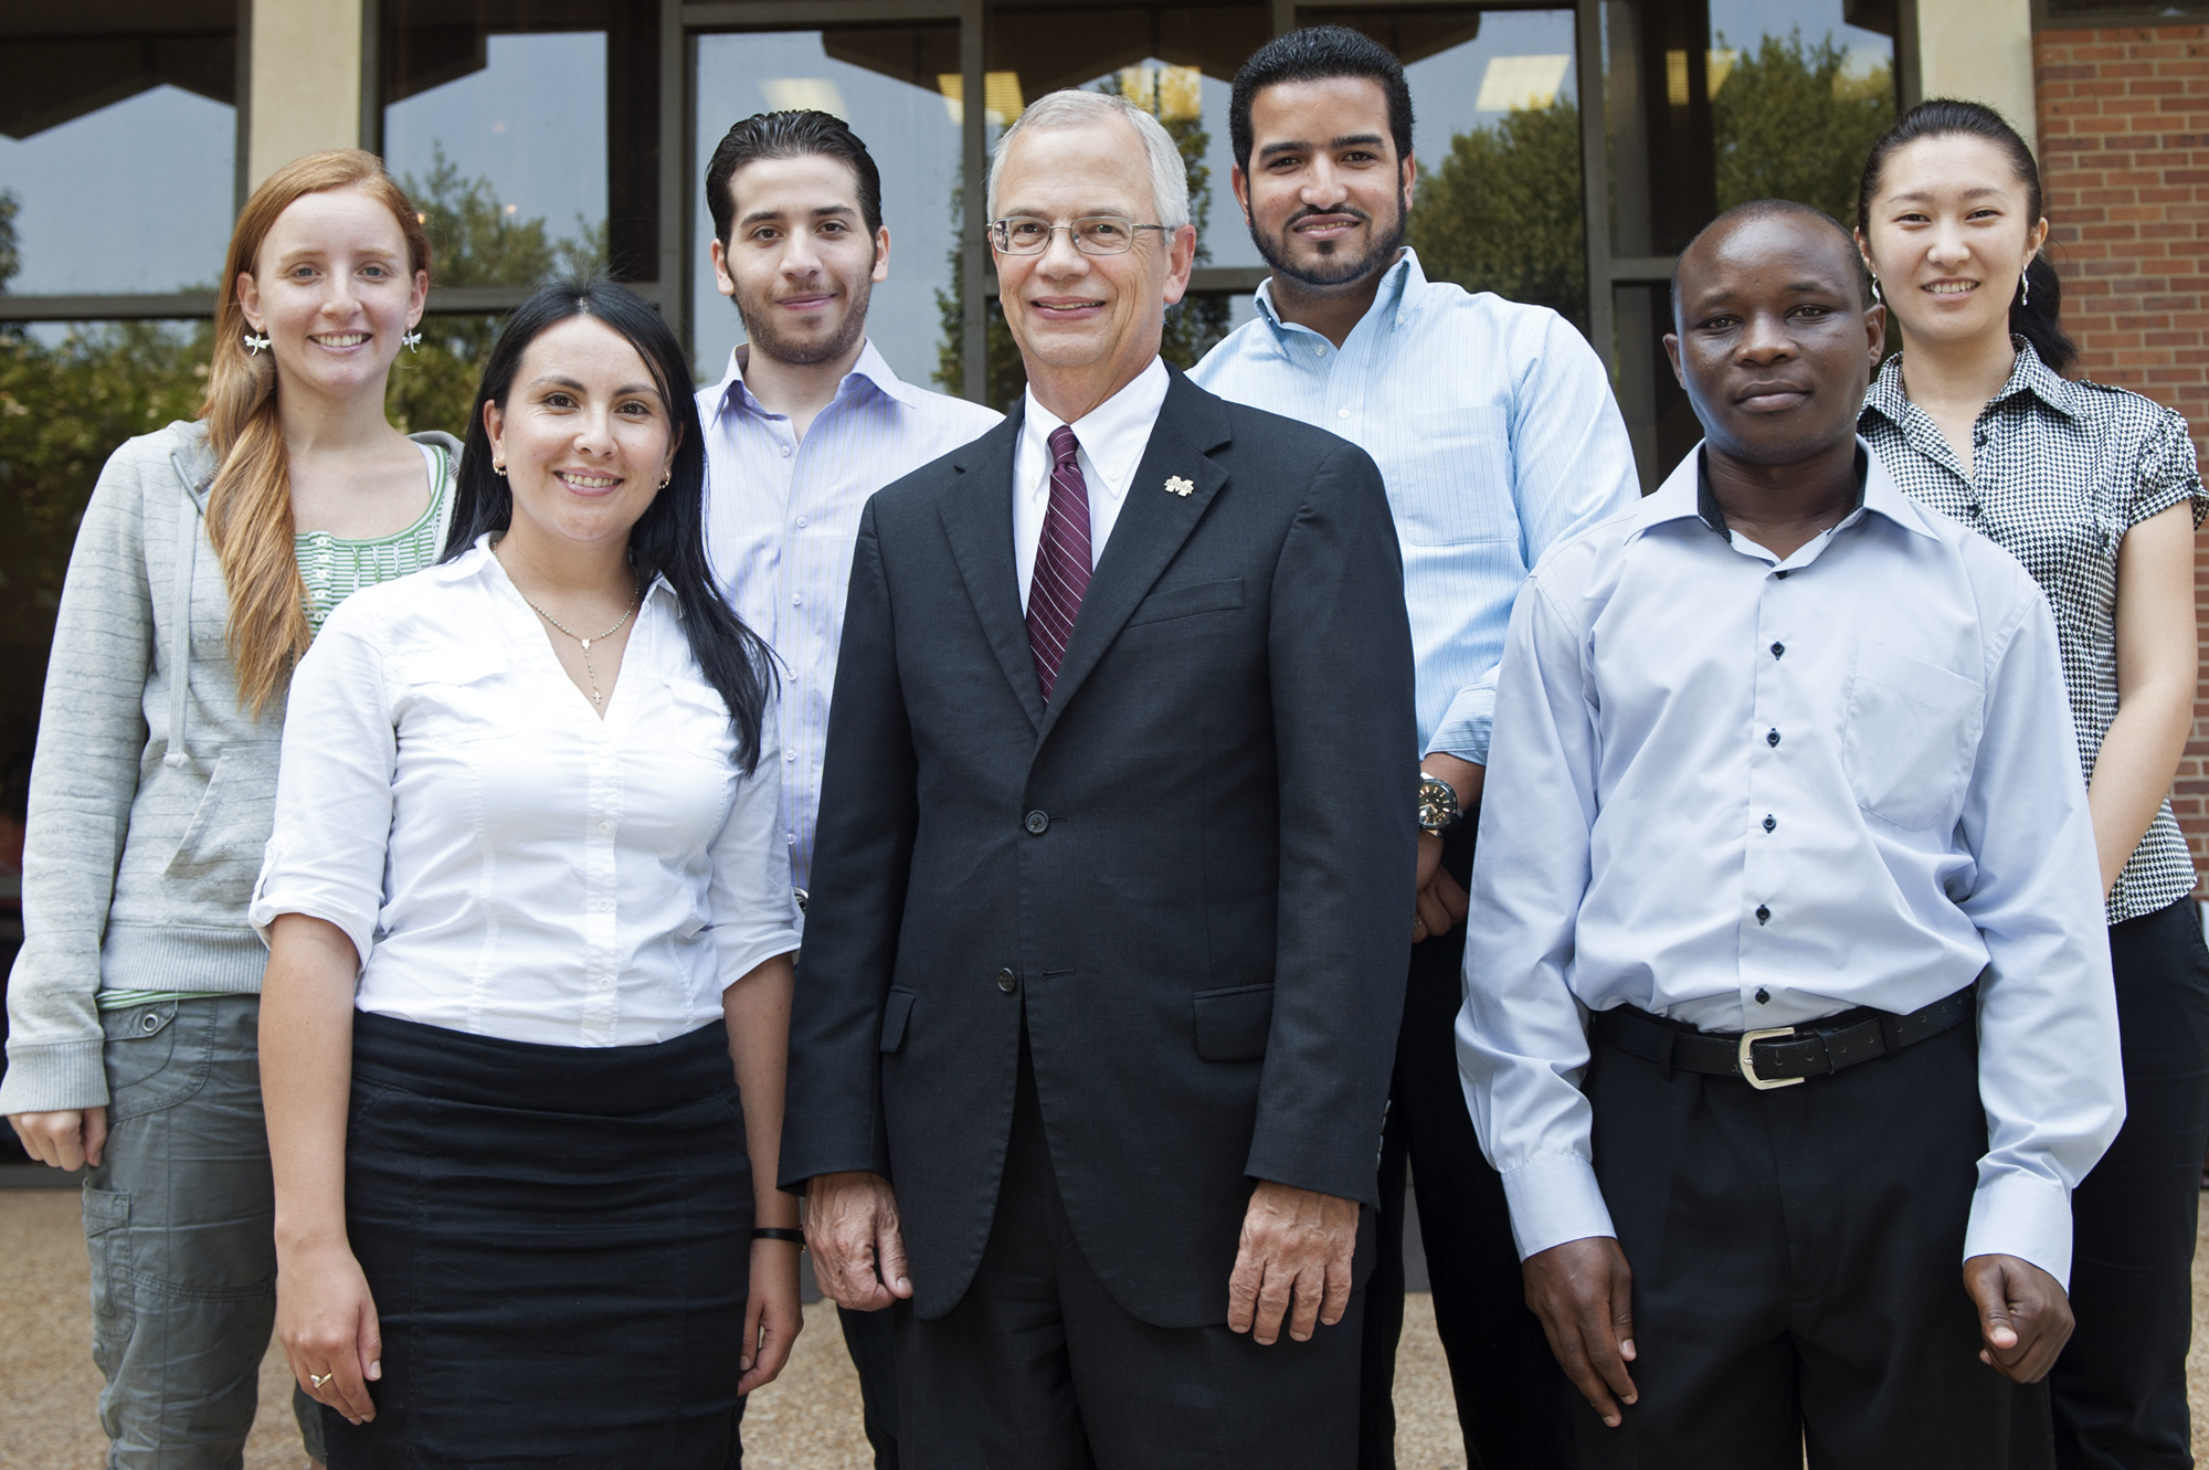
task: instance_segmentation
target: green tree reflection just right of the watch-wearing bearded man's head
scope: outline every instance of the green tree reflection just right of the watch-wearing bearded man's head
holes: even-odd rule
[[[1579,108],[1557,97],[1449,139],[1440,166],[1418,170],[1405,241],[1429,280],[1551,307],[1586,331]]]

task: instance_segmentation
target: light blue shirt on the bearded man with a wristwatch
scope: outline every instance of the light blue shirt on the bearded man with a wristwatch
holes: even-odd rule
[[[1341,351],[1257,318],[1191,377],[1332,428],[1381,466],[1418,656],[1420,753],[1487,764],[1511,600],[1542,552],[1637,499],[1635,450],[1602,360],[1549,307],[1427,280],[1407,247]]]

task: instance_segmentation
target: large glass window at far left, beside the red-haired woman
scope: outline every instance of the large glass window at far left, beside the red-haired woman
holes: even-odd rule
[[[97,316],[86,296],[166,298],[121,307],[139,313],[208,309],[239,188],[236,20],[236,0],[0,7],[0,788],[11,801],[93,481],[130,435],[197,413],[208,362],[203,322],[42,318]],[[9,830],[0,812],[0,845]],[[0,883],[9,865],[0,852]]]

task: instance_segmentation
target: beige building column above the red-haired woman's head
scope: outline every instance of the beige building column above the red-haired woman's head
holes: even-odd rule
[[[252,0],[245,185],[360,146],[362,0]]]

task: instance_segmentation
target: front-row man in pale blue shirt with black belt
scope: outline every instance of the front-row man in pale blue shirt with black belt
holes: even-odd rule
[[[2052,1463],[2125,1115],[2054,618],[1856,437],[1840,225],[1730,210],[1672,300],[1708,437],[1520,594],[1458,1022],[1579,1463]]]

